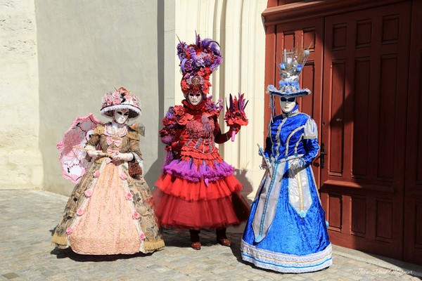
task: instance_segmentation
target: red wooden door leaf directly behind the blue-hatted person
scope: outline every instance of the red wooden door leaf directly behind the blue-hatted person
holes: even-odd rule
[[[267,55],[268,67],[266,68],[267,72],[271,74],[266,74],[266,84],[279,84],[279,64],[281,63],[281,53],[284,48],[290,50],[293,48],[309,48],[310,55],[305,67],[303,67],[300,84],[302,87],[311,90],[312,93],[305,98],[298,98],[298,103],[301,112],[305,112],[311,116],[316,124],[321,124],[322,58],[324,53],[324,41],[322,38],[324,19],[319,18],[316,20],[276,25],[275,29],[267,29],[267,34],[268,32],[274,32],[276,38],[274,40],[275,45],[268,44],[273,52],[269,53],[267,51],[269,55]],[[268,104],[268,95],[266,98],[266,104]],[[276,98],[276,113],[281,114],[279,98]],[[270,115],[271,110],[266,110],[265,124],[268,124]],[[267,131],[265,131],[265,136],[267,136]],[[318,183],[320,169],[317,160],[314,162],[312,168],[314,170],[315,180]]]

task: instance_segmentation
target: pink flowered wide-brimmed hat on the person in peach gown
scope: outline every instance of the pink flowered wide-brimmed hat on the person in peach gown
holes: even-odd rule
[[[102,100],[101,114],[113,117],[114,110],[129,110],[129,118],[134,119],[141,115],[141,101],[130,91],[120,87],[117,91],[106,93]]]

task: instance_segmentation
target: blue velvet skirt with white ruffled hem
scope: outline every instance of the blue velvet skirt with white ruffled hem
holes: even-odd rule
[[[262,240],[255,237],[252,229],[252,222],[260,200],[259,194],[252,202],[250,217],[241,243],[241,254],[244,261],[254,263],[260,268],[282,273],[305,273],[331,266],[331,243],[314,175],[309,166],[303,172],[302,175],[306,176],[302,176],[302,181],[307,181],[308,186],[306,195],[310,196],[312,200],[308,209],[305,212],[300,212],[298,208],[293,207],[292,195],[289,200],[289,191],[292,188],[289,187],[289,183],[291,182],[288,177],[281,176],[281,182],[274,181],[274,184],[281,184],[279,193],[271,194],[271,196],[279,197],[279,200],[276,201],[275,216]],[[270,180],[267,177],[262,185]],[[309,202],[309,198],[307,200]],[[263,214],[259,216],[263,216]],[[260,242],[257,242],[259,240]]]

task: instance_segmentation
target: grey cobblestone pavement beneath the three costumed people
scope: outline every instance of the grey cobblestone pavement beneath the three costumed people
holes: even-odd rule
[[[188,233],[164,233],[166,247],[153,254],[83,256],[51,246],[67,197],[40,190],[0,190],[0,280],[419,280],[422,267],[376,265],[334,247],[333,266],[316,273],[280,274],[243,263],[241,234],[231,247],[201,232],[203,249],[189,247]],[[353,252],[354,251],[354,252]],[[353,254],[355,253],[355,254]],[[397,263],[400,263],[397,261]]]

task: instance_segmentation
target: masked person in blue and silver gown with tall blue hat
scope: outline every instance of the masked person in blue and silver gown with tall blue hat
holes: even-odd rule
[[[308,50],[284,50],[279,89],[268,86],[273,117],[265,150],[260,148],[267,171],[241,242],[244,261],[281,273],[306,273],[332,264],[325,212],[311,167],[319,153],[318,130],[297,103],[298,97],[310,94],[299,85],[308,55]],[[275,114],[276,96],[280,115]]]

